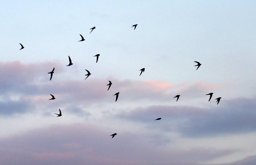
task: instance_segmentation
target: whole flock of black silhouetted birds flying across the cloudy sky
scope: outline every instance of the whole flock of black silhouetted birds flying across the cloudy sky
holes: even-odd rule
[[[134,30],[135,30],[136,27],[137,27],[137,25],[138,25],[138,24],[132,25],[132,28],[134,28]],[[90,30],[91,30],[90,33],[91,33],[95,28],[96,28],[95,26],[94,26],[93,28],[90,28]],[[89,34],[90,34],[90,33],[89,33]],[[84,40],[85,40],[84,37],[83,37],[81,34],[80,34],[80,36],[81,36],[81,40],[79,40],[78,42],[84,41]],[[20,50],[24,49],[24,46],[23,46],[22,44],[20,44],[20,46],[21,46]],[[96,55],[94,56],[94,57],[96,57],[96,63],[97,63],[98,60],[99,60],[99,56],[100,56],[100,54],[96,54]],[[68,60],[69,60],[69,64],[68,64],[67,66],[72,66],[73,63],[72,63],[72,60],[71,60],[70,56],[68,56]],[[198,70],[198,68],[199,68],[202,64],[200,64],[200,62],[197,62],[197,61],[194,61],[194,62],[197,63],[197,65],[195,65],[195,66],[197,66],[196,70]],[[55,68],[53,68],[51,72],[48,72],[48,74],[50,74],[50,80],[52,80],[52,76],[53,76],[53,74],[54,74],[54,69],[55,69]],[[141,75],[143,72],[145,72],[145,68],[142,68],[142,69],[139,70],[139,71],[140,71],[140,75]],[[91,73],[90,73],[88,70],[86,70],[86,72],[87,72],[87,74],[85,75],[86,78],[85,78],[84,80],[86,80],[86,79],[91,75]],[[139,75],[139,76],[140,76],[140,75]],[[107,84],[107,85],[108,85],[108,89],[110,89],[110,87],[111,87],[111,85],[112,85],[112,82],[111,82],[111,81],[108,81],[108,82],[109,82],[109,83]],[[52,96],[52,98],[50,98],[49,100],[54,100],[54,99],[56,99],[56,98],[54,97],[54,95],[52,95],[52,94],[50,94],[50,95]],[[115,93],[114,95],[116,96],[116,101],[117,101],[119,92]],[[114,95],[113,95],[113,96],[114,96]],[[211,93],[208,93],[208,94],[206,94],[206,95],[209,95],[209,96],[210,96],[210,98],[209,98],[209,100],[208,100],[208,101],[210,101],[211,98],[212,98],[213,93],[211,92]],[[173,98],[177,98],[176,101],[178,101],[178,99],[180,98],[180,95],[176,95],[176,96],[174,96]],[[220,99],[221,99],[221,97],[216,98],[217,105],[218,105],[218,103],[220,102]],[[54,114],[57,115],[56,117],[62,116],[62,113],[61,113],[60,109],[59,109],[59,114],[58,114],[58,113],[54,113]],[[157,119],[155,119],[155,120],[160,120],[160,119],[162,119],[162,118],[159,117],[159,118],[157,118]],[[117,135],[117,133],[113,133],[112,135],[109,135],[109,136],[112,136],[112,138],[113,138],[113,137],[116,136],[116,135]]]

